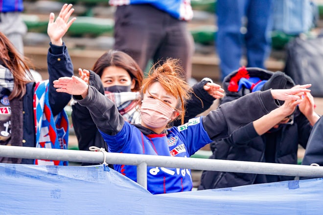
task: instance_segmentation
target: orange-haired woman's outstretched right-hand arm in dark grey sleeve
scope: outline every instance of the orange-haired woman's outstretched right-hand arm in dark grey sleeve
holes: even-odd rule
[[[226,138],[230,136],[234,130],[257,120],[278,108],[279,105],[277,105],[277,101],[275,99],[287,101],[300,100],[303,92],[310,91],[309,89],[306,89],[306,87],[309,86],[310,85],[299,86],[294,89],[266,90],[263,92],[256,91],[254,93],[247,94],[237,100],[221,105],[217,110],[211,111],[203,118],[203,126],[208,131],[211,139],[216,140]],[[299,102],[300,101],[295,101],[295,103],[292,104],[296,106]],[[287,104],[288,103],[286,103],[286,105]],[[274,124],[275,120],[277,121],[279,117],[285,114],[286,112],[277,114],[277,118],[271,119],[271,124]],[[266,116],[266,118],[267,117],[268,116]],[[268,124],[267,127],[270,127],[271,124]],[[257,132],[261,134],[266,129],[266,127],[260,125]]]

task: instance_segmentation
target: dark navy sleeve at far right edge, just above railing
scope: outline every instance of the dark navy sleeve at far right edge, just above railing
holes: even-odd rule
[[[308,138],[305,154],[301,162],[302,165],[312,163],[323,166],[323,119],[322,117],[315,123]]]

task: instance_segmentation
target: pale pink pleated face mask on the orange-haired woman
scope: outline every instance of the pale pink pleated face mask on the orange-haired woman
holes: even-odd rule
[[[171,120],[174,108],[158,99],[144,99],[140,108],[141,120],[150,128],[161,128]]]

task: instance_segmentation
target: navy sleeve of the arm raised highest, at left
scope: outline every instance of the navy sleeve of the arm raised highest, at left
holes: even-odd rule
[[[73,75],[73,65],[67,47],[50,43],[47,53],[47,66],[49,74],[49,104],[56,116],[69,103],[71,96],[68,93],[56,92],[53,81],[60,77],[71,77]]]

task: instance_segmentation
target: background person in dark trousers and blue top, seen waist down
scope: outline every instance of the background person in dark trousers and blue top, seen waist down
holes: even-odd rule
[[[191,77],[194,41],[187,30],[190,0],[109,0],[115,11],[114,49],[129,54],[145,71],[167,58],[179,59],[183,78]]]

